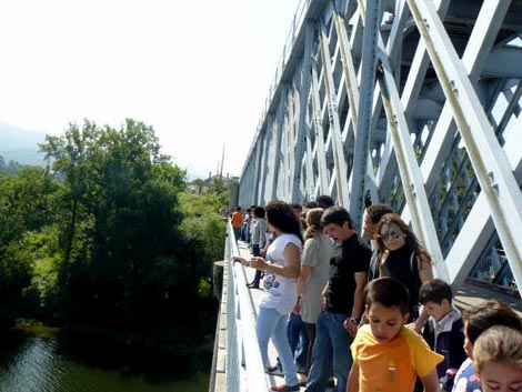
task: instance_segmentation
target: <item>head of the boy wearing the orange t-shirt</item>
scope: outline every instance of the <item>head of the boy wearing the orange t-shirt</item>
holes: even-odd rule
[[[379,278],[368,283],[364,293],[373,336],[379,343],[393,340],[410,316],[406,287],[393,278]]]

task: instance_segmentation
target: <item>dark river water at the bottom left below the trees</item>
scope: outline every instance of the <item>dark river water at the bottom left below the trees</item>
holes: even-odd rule
[[[208,374],[185,381],[150,376],[135,368],[86,364],[62,350],[51,329],[4,331],[0,335],[0,392],[207,392]]]

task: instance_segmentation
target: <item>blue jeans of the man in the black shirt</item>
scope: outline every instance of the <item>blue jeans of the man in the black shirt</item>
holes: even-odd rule
[[[345,392],[347,380],[352,368],[350,344],[352,338],[344,330],[343,323],[349,314],[322,311],[315,324],[312,368],[308,376],[307,392],[324,392],[332,370],[338,379],[333,392]]]

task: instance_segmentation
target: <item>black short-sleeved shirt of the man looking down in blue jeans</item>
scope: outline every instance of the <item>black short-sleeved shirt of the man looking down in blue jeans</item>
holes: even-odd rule
[[[327,310],[350,314],[355,292],[355,272],[368,273],[372,252],[357,234],[335,247],[330,259],[330,280],[327,293]]]

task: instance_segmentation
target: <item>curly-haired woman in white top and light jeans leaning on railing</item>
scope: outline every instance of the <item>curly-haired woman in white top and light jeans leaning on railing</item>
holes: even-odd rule
[[[284,372],[283,385],[273,391],[299,391],[298,373],[287,336],[287,318],[297,301],[297,278],[301,271],[301,225],[292,208],[282,201],[271,201],[265,207],[265,220],[277,239],[267,250],[267,259],[254,257],[247,261],[234,258],[243,265],[264,271],[264,294],[259,304],[257,334],[264,368],[270,365],[269,340],[278,351]]]

